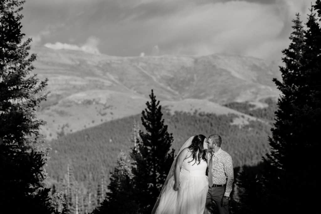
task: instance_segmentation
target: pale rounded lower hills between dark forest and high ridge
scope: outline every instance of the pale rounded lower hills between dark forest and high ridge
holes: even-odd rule
[[[76,93],[60,100],[57,104],[39,112],[39,117],[48,121],[43,133],[48,139],[96,126],[100,123],[139,114],[147,99],[134,94],[109,90],[91,90]],[[231,124],[248,124],[257,118],[221,106],[208,100],[185,99],[162,101],[164,109],[175,111],[207,112],[216,115],[234,114]]]

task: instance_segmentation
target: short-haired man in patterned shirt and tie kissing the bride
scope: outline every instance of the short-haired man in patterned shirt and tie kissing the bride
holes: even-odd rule
[[[221,149],[221,136],[210,135],[207,140],[209,189],[204,213],[211,213],[212,203],[215,203],[220,214],[228,214],[230,193],[234,180],[232,158]]]

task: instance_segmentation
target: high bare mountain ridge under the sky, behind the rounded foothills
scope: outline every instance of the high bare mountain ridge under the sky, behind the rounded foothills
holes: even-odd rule
[[[280,78],[277,64],[252,57],[114,57],[48,48],[34,51],[38,53],[35,72],[49,78],[52,93],[67,88],[74,93],[94,87],[132,91],[146,97],[154,88],[162,100],[196,98],[216,103],[278,95],[272,82],[272,78]],[[74,80],[63,81],[68,76]]]

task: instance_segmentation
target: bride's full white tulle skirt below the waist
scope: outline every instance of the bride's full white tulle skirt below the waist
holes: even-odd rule
[[[203,214],[208,191],[207,177],[180,173],[179,189],[173,189],[174,176],[168,181],[155,214]]]

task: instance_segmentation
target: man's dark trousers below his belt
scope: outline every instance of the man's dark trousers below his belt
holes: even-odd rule
[[[220,214],[229,214],[229,205],[221,206],[224,193],[224,186],[208,188],[204,213],[213,210],[214,206],[216,206]]]

